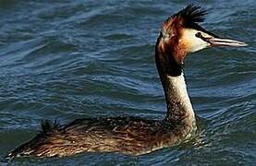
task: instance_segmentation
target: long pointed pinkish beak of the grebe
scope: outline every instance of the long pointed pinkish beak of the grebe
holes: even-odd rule
[[[213,47],[217,46],[231,46],[231,47],[243,47],[247,46],[248,44],[242,41],[235,41],[235,40],[230,40],[230,39],[222,39],[222,38],[207,38],[207,42],[209,42]]]

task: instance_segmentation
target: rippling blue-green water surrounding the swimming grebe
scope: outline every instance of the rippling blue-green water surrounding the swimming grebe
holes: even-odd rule
[[[209,1],[202,26],[249,43],[190,54],[185,75],[199,135],[139,157],[116,153],[7,161],[43,119],[165,117],[154,64],[162,22],[186,1],[0,0],[0,165],[255,165],[256,4]]]

